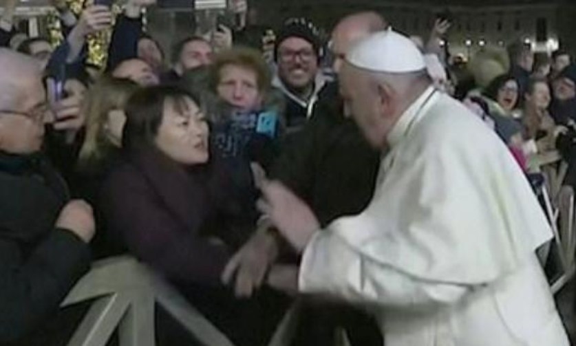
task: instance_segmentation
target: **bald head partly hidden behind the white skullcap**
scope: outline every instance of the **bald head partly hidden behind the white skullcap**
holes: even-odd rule
[[[359,12],[344,17],[332,31],[334,71],[340,71],[346,52],[356,41],[387,28],[383,17],[376,12]]]

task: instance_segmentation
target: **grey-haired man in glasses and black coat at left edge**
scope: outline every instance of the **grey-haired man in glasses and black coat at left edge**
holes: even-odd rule
[[[34,59],[0,49],[0,344],[49,320],[89,268],[92,208],[41,154],[46,93]],[[30,345],[30,343],[26,343]]]

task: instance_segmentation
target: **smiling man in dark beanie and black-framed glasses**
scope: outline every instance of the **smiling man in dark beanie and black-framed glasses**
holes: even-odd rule
[[[288,129],[297,129],[310,117],[319,92],[330,81],[319,68],[322,42],[310,21],[288,19],[277,35],[275,58],[278,65],[273,86],[286,98]]]

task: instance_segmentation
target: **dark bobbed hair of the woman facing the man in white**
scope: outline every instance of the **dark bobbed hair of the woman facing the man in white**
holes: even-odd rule
[[[162,124],[165,102],[180,102],[185,98],[190,98],[200,107],[200,98],[196,94],[179,87],[157,86],[136,91],[125,107],[127,119],[122,134],[122,147],[134,150],[153,145]]]

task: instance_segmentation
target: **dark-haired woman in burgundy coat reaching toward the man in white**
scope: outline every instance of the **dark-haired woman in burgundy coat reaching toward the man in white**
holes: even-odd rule
[[[101,195],[107,227],[234,343],[264,345],[286,296],[262,288],[237,299],[221,282],[228,261],[253,239],[254,188],[237,186],[231,175],[238,172],[211,159],[209,126],[195,96],[174,87],[142,89],[125,112],[123,160]],[[271,254],[273,247],[260,249]]]

